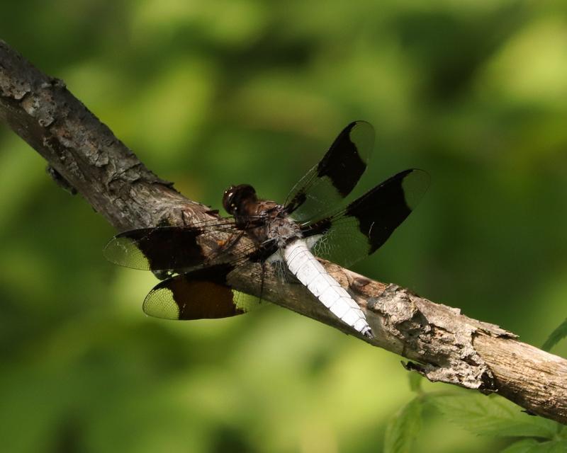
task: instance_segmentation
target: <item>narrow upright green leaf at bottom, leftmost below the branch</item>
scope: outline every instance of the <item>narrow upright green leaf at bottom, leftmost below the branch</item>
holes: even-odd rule
[[[413,398],[388,422],[384,453],[408,453],[421,429],[422,399]]]

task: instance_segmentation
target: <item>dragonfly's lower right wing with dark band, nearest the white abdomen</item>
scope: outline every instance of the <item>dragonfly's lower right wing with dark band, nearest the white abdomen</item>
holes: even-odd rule
[[[429,183],[425,171],[402,171],[345,209],[306,226],[303,233],[322,235],[313,247],[316,255],[343,266],[352,265],[386,242],[417,206]]]

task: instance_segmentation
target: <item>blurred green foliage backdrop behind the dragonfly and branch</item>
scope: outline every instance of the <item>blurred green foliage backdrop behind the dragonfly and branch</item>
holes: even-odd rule
[[[283,201],[368,120],[359,193],[432,187],[355,270],[534,345],[567,316],[564,1],[7,1],[0,38],[213,207],[242,182]],[[277,306],[147,318],[155,279],[103,260],[111,226],[4,126],[0,206],[3,452],[381,452],[400,357]],[[415,452],[505,445],[426,415]]]

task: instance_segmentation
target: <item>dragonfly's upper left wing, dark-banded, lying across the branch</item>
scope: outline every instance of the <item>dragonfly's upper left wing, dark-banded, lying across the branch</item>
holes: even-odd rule
[[[214,239],[213,239],[214,237]],[[179,270],[202,265],[203,246],[226,249],[237,240],[232,219],[214,219],[193,226],[159,226],[124,231],[106,244],[112,263],[141,270]]]

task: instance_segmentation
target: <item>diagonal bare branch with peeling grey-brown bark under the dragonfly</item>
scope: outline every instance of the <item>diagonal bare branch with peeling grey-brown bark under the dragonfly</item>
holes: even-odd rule
[[[74,188],[118,231],[188,225],[215,214],[149,171],[64,83],[38,71],[0,41],[0,120],[38,151],[52,175]],[[498,392],[527,411],[567,424],[567,360],[521,343],[513,333],[476,321],[397,285],[370,280],[322,261],[349,287],[376,338],[427,379]],[[259,294],[259,270],[235,275],[237,289]],[[268,275],[264,297],[355,335],[301,287],[285,292]],[[378,381],[379,382],[379,381]]]

